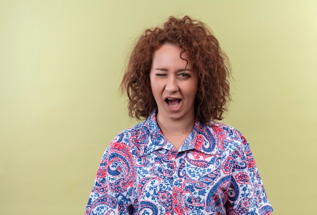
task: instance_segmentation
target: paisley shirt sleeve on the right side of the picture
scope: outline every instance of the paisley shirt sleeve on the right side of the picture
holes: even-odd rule
[[[266,197],[250,145],[242,135],[241,143],[233,152],[232,158],[233,168],[226,203],[227,214],[271,214],[273,208]]]

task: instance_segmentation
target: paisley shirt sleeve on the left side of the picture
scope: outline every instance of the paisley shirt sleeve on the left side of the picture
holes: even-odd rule
[[[135,165],[130,147],[111,142],[102,156],[86,215],[132,214]]]

